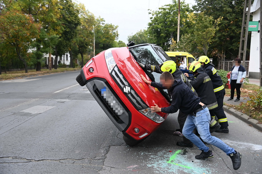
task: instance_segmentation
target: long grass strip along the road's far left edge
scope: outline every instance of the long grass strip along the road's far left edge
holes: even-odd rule
[[[56,70],[52,68],[52,70],[49,69],[41,69],[41,71],[36,70],[28,70],[28,73],[25,73],[24,70],[20,71],[7,71],[2,72],[0,75],[0,80],[10,80],[25,76],[34,76],[34,75],[46,75],[46,74],[52,74],[52,73],[62,73],[65,71],[75,71],[75,70],[81,70],[81,68],[57,68]]]

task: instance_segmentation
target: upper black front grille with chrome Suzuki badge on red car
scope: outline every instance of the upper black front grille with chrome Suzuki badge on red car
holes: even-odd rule
[[[115,68],[112,70],[111,77],[114,79],[118,87],[122,89],[122,91],[125,86],[130,87],[130,93],[123,93],[137,110],[148,108],[145,102],[139,97],[139,95],[134,91],[132,86],[125,79],[125,77],[123,76],[123,74],[117,66],[115,66]]]

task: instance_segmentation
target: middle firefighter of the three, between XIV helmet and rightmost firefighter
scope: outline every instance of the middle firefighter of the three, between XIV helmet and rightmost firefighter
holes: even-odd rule
[[[208,107],[208,110],[212,112],[213,109],[217,108],[217,99],[213,90],[213,84],[210,77],[207,75],[206,70],[203,69],[199,61],[193,61],[189,67],[189,71],[193,73],[194,77],[189,77],[187,73],[185,75],[190,79],[190,84],[197,91],[200,101]],[[211,126],[217,122],[211,117]],[[217,129],[220,126],[217,126]]]

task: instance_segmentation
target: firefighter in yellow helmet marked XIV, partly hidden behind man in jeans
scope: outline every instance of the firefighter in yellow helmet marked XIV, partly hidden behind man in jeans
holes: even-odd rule
[[[182,79],[182,81],[185,82],[185,84],[194,92],[194,94],[196,96],[198,96],[197,93],[196,93],[196,90],[189,83],[187,77],[178,68],[176,68],[176,63],[174,61],[171,61],[171,60],[165,61],[164,63],[160,64],[160,66],[143,65],[141,63],[138,63],[138,64],[144,70],[150,70],[150,71],[156,72],[156,73],[163,73],[165,71],[168,71],[169,73],[172,74],[174,79]],[[181,131],[182,131],[183,126],[185,124],[185,120],[187,118],[187,115],[188,114],[182,113],[179,110],[177,119],[178,119],[178,124],[179,124],[179,128],[180,128]],[[212,119],[210,121],[210,133],[214,132],[217,128],[219,128],[219,124],[212,117]],[[183,141],[176,142],[176,145],[181,146],[181,147],[193,147],[193,143],[189,139],[185,138],[184,136],[183,136]]]

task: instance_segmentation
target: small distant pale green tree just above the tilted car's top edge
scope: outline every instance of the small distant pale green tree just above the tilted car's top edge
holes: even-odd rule
[[[147,44],[147,43],[152,43],[153,38],[151,38],[148,35],[147,30],[140,30],[134,35],[129,35],[128,41],[133,41],[135,44]]]

